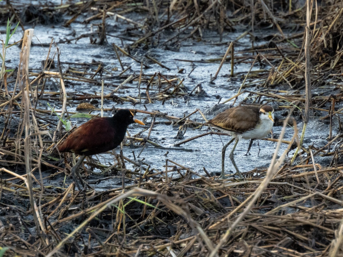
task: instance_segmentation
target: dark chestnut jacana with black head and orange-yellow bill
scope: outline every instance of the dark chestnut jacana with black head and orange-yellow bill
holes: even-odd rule
[[[74,152],[81,155],[71,169],[71,174],[79,189],[81,187],[76,176],[84,186],[79,167],[85,157],[116,148],[124,139],[127,127],[134,122],[145,125],[142,121],[133,119],[133,113],[130,110],[122,109],[117,111],[113,117],[95,118],[87,121],[58,146],[60,152]]]

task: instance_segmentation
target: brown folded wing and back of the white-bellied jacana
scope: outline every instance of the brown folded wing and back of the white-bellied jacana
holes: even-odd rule
[[[255,127],[259,121],[259,107],[237,106],[219,113],[209,121],[224,130],[243,133]]]

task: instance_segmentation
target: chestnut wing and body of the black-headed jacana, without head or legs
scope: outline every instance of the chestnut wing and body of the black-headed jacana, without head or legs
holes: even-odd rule
[[[72,132],[64,142],[59,145],[60,152],[75,152],[77,154],[93,155],[109,151],[120,142],[116,138],[116,130],[110,125],[111,118],[92,119]]]

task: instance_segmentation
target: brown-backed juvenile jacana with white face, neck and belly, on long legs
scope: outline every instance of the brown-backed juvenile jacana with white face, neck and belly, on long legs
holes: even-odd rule
[[[234,160],[234,150],[238,141],[244,139],[262,139],[269,135],[274,124],[274,109],[269,105],[237,106],[219,113],[208,122],[218,130],[229,133],[233,138],[222,149],[222,173],[224,178],[224,158],[226,148],[234,141],[235,145],[230,152],[230,160],[238,175],[243,178]]]

